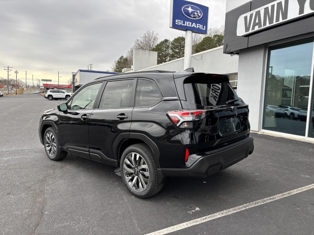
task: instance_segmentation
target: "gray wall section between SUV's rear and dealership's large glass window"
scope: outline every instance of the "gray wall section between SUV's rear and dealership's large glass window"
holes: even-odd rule
[[[237,94],[249,105],[253,131],[261,130],[266,53],[264,45],[240,50]]]

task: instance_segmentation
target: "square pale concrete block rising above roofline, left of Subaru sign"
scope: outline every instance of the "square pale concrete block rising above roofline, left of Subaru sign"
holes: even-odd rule
[[[133,50],[133,71],[157,65],[157,51]]]

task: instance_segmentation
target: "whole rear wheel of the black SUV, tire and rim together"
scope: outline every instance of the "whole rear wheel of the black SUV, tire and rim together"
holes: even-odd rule
[[[124,150],[120,170],[127,189],[139,198],[153,196],[164,185],[158,183],[155,159],[146,144],[134,144]]]

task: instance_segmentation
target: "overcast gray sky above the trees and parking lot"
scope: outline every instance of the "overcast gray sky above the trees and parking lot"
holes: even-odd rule
[[[225,23],[226,0],[195,0],[209,7],[209,28]],[[113,61],[147,30],[160,41],[183,31],[169,28],[170,0],[1,0],[0,65],[36,78],[65,84],[71,72],[111,70]],[[0,76],[7,77],[0,70]],[[14,71],[10,78],[15,78]]]

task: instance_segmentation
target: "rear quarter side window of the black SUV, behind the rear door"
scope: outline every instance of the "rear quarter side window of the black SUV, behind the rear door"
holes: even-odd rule
[[[153,106],[160,102],[161,95],[154,82],[138,79],[135,107]]]

